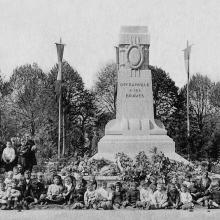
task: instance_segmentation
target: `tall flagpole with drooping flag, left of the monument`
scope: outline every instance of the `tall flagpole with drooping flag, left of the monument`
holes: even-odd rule
[[[57,56],[58,56],[58,75],[57,75],[57,84],[58,84],[58,94],[59,94],[59,123],[58,123],[58,159],[60,159],[61,152],[61,129],[62,129],[62,59],[63,59],[63,50],[64,44],[60,38],[60,42],[56,43],[57,47]]]

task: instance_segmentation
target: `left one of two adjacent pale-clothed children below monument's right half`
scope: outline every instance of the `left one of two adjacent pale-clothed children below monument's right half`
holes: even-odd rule
[[[152,205],[153,191],[149,188],[149,183],[143,183],[140,189],[140,207],[143,209],[149,209]]]

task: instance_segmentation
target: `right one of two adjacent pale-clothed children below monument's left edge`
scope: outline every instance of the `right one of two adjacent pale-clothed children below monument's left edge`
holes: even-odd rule
[[[107,182],[103,181],[102,186],[96,190],[98,196],[98,207],[102,209],[111,209],[112,208],[112,198],[109,196],[107,190]]]

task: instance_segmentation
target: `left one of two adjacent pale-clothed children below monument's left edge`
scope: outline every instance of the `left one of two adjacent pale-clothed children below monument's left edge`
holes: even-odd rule
[[[84,203],[87,209],[98,209],[98,200],[95,183],[88,183],[87,190],[84,194]],[[95,184],[96,185],[96,184]]]

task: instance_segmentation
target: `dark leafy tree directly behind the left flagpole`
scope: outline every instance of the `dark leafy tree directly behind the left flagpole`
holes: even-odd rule
[[[55,91],[57,71],[58,66],[55,65],[48,76],[48,82],[53,87],[53,91]],[[62,64],[62,76],[62,105],[65,115],[67,153],[71,154],[75,150],[82,152],[84,134],[89,133],[93,127],[94,96],[92,92],[84,88],[81,76],[67,62]],[[52,121],[57,125],[58,115]],[[56,135],[57,129],[56,126]]]

